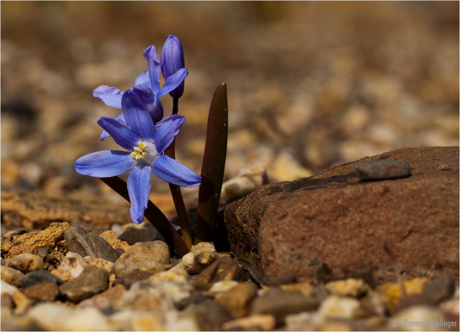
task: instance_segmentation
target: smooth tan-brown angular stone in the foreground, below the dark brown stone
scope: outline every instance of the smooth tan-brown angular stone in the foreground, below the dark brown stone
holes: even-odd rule
[[[240,318],[249,314],[249,306],[259,289],[253,282],[242,283],[222,294],[216,302],[222,304],[233,316]]]

